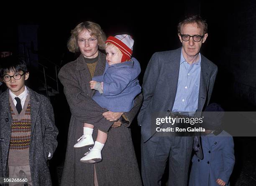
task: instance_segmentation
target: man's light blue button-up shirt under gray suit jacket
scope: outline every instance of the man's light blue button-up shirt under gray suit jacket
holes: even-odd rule
[[[200,53],[199,57],[197,62],[189,64],[181,52],[178,87],[172,112],[188,112],[188,115],[192,115],[197,111],[201,73]]]

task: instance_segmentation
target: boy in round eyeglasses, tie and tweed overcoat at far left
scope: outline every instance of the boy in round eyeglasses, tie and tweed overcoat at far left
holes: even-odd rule
[[[22,59],[5,57],[0,70],[8,87],[0,95],[3,177],[21,179],[27,185],[50,186],[47,160],[54,154],[58,134],[51,103],[25,86],[29,72]],[[15,184],[17,182],[9,182],[9,186]]]

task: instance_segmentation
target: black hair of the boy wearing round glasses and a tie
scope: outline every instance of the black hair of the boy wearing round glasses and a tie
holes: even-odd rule
[[[24,73],[28,72],[27,64],[21,57],[18,57],[15,55],[1,58],[0,60],[1,77],[3,77],[4,74],[10,71],[13,71],[13,72],[23,71]]]

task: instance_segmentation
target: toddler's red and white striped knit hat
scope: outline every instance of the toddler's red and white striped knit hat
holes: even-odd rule
[[[123,57],[121,62],[129,61],[131,59],[131,55],[133,53],[133,43],[134,40],[131,35],[123,34],[116,35],[115,37],[110,36],[107,38],[106,42],[110,42],[122,52]]]

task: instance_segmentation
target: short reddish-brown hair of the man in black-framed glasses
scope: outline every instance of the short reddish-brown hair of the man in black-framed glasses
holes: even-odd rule
[[[203,20],[200,15],[189,15],[186,16],[184,20],[180,21],[178,24],[178,34],[181,33],[181,27],[183,25],[189,24],[189,23],[196,23],[199,28],[203,28],[204,34],[208,32],[207,28],[207,22],[206,20]]]

